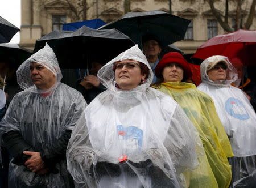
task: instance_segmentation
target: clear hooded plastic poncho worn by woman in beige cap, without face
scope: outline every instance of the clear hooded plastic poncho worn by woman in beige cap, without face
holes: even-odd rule
[[[224,58],[229,63],[227,80],[212,82],[208,79],[206,68],[211,59]],[[222,56],[205,59],[200,66],[203,82],[197,87],[212,97],[218,116],[230,138],[234,156],[256,155],[256,114],[245,94],[231,85],[237,78],[237,71]]]

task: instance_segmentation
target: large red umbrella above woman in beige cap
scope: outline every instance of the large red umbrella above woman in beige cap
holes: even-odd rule
[[[240,58],[244,65],[256,65],[256,30],[238,30],[217,35],[205,42],[192,58],[206,59],[212,55]]]

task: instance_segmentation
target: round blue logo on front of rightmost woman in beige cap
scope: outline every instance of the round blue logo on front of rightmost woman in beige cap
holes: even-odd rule
[[[246,120],[250,118],[249,114],[246,112],[245,106],[238,99],[229,98],[225,103],[225,109],[230,116],[237,119]]]

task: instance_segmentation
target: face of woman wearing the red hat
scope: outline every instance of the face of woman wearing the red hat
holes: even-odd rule
[[[169,63],[164,66],[163,79],[164,82],[176,82],[183,79],[184,70],[178,63]]]

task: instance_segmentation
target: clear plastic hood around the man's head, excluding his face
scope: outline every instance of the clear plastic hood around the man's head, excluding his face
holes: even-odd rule
[[[47,90],[41,90],[36,88],[35,84],[32,82],[30,76],[30,64],[32,62],[39,63],[40,65],[46,67],[50,70],[56,77],[56,83]],[[62,74],[60,71],[59,63],[57,61],[57,57],[53,52],[52,48],[46,43],[44,48],[40,49],[35,54],[31,55],[22,65],[19,66],[16,71],[17,74],[17,82],[22,89],[26,89],[30,92],[35,93],[45,93],[50,92],[56,88],[56,86],[60,83],[62,78]]]

